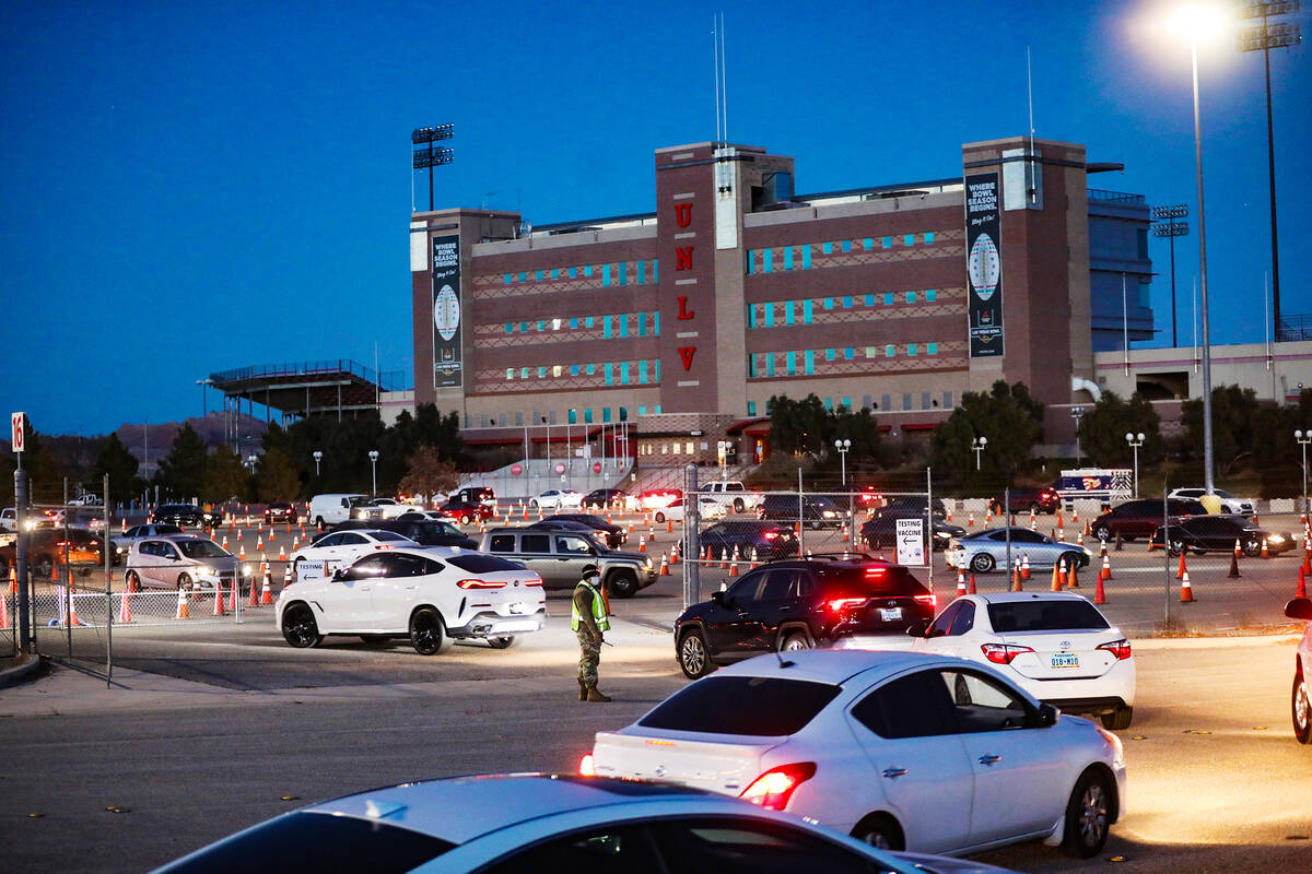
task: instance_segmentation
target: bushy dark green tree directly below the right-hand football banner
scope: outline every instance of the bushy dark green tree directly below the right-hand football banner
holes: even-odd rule
[[[971,440],[988,438],[975,470]],[[1043,436],[1043,404],[1023,383],[993,383],[988,393],[966,392],[946,422],[934,428],[930,452],[935,473],[964,482],[1010,482],[1033,465],[1030,451]]]

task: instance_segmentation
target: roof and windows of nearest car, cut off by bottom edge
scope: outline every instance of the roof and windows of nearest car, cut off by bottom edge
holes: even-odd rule
[[[732,798],[575,774],[380,786],[282,814],[157,874],[215,870],[1004,874],[968,860],[882,853]]]

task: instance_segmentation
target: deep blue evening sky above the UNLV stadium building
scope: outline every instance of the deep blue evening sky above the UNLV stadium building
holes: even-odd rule
[[[1124,162],[1090,183],[1189,203],[1197,229],[1189,52],[1148,33],[1161,7],[718,7],[729,138],[794,156],[800,194],[954,176],[962,143],[1026,132],[1030,46],[1036,135]],[[199,414],[214,371],[371,364],[377,342],[409,372],[411,128],[455,124],[438,206],[649,211],[652,151],[715,135],[715,8],[5,0],[0,406],[92,435]],[[1282,309],[1312,313],[1312,58],[1271,62]],[[1261,54],[1204,46],[1200,88],[1212,338],[1261,342]],[[1178,241],[1186,343],[1197,256]],[[1169,345],[1165,275],[1153,305]]]

